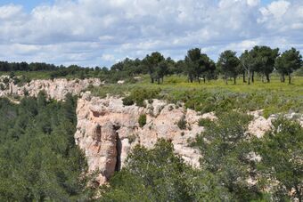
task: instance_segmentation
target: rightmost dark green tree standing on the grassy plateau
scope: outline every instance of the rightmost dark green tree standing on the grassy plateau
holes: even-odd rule
[[[295,48],[285,51],[275,61],[275,68],[281,74],[281,81],[284,82],[284,75],[289,77],[291,84],[291,73],[302,67],[302,55]]]

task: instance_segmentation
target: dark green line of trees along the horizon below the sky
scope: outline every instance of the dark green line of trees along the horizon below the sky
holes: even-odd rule
[[[229,79],[242,76],[244,83],[254,83],[255,76],[262,77],[262,81],[270,82],[270,74],[275,70],[281,76],[281,82],[291,84],[291,73],[302,67],[302,56],[298,50],[291,48],[283,53],[279,49],[268,46],[255,46],[244,51],[240,57],[231,50],[226,50],[219,55],[217,62],[212,61],[200,48],[193,48],[187,52],[184,60],[174,61],[165,58],[161,53],[154,52],[146,55],[143,60],[125,59],[111,66],[100,68],[83,68],[77,65],[55,66],[46,63],[7,62],[0,61],[0,71],[53,71],[50,77],[100,77],[108,82],[117,82],[120,79],[132,81],[135,76],[149,74],[151,83],[163,82],[169,75],[186,75],[189,82],[205,83],[211,79],[222,76],[227,84]]]

